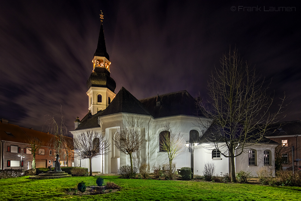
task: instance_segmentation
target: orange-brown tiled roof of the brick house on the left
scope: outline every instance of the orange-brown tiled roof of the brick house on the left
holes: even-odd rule
[[[0,140],[28,144],[29,137],[39,139],[43,142],[43,146],[49,146],[49,142],[51,142],[53,135],[14,124],[2,123],[0,121]],[[67,140],[72,139],[70,137],[65,138]]]

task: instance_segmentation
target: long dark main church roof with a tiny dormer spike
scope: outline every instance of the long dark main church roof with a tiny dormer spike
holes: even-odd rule
[[[153,96],[139,100],[154,118],[191,115],[203,116],[197,110],[197,102],[186,90]],[[160,106],[156,102],[160,101]]]

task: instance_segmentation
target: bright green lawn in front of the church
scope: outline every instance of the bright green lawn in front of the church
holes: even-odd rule
[[[96,186],[97,177],[29,180],[18,177],[0,180],[0,200],[301,200],[300,187],[271,187],[252,184],[223,184],[198,181],[119,179],[103,176],[122,189],[104,195],[67,195],[80,181]]]

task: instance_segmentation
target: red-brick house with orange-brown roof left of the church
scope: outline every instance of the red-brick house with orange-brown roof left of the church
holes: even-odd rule
[[[29,137],[33,137],[42,142],[41,149],[36,152],[36,168],[54,167],[56,151],[49,143],[53,135],[9,124],[5,119],[0,120],[1,169],[22,168],[23,170],[28,170],[32,168],[33,154],[30,151]],[[65,137],[65,140],[73,143],[73,139],[70,137]],[[21,155],[22,161],[18,154]],[[61,166],[67,166],[67,161],[68,166],[74,164],[73,156],[68,158],[66,154],[64,154],[60,155],[60,159]]]

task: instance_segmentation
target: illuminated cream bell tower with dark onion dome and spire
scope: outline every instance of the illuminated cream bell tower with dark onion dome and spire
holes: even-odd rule
[[[89,110],[92,115],[104,110],[115,97],[116,82],[110,77],[110,57],[107,53],[104,40],[102,21],[104,16],[101,12],[101,26],[98,37],[97,49],[93,58],[93,72],[87,81],[87,95],[89,96]]]

